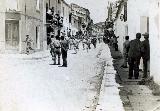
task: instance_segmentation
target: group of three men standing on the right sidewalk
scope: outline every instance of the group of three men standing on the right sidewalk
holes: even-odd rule
[[[140,41],[141,33],[136,34],[136,39],[129,41],[129,36],[125,37],[123,43],[123,55],[124,63],[123,68],[127,68],[127,62],[129,64],[129,75],[128,79],[139,78],[139,65],[140,59],[143,59],[143,78],[148,78],[148,61],[150,60],[150,45],[149,45],[149,34],[142,34],[144,41]]]

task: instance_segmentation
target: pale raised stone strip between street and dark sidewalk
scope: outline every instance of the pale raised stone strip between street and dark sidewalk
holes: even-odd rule
[[[120,85],[116,83],[116,74],[113,67],[113,58],[108,45],[105,44],[103,54],[106,58],[104,76],[101,84],[100,96],[96,111],[124,111],[122,101],[119,95]]]

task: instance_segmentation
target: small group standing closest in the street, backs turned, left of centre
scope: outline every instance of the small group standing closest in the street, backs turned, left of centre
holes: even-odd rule
[[[64,36],[56,36],[51,35],[50,40],[50,53],[52,55],[53,65],[60,65],[60,57],[62,55],[63,65],[62,67],[67,67],[67,51],[69,49],[68,41]],[[58,57],[58,64],[57,62]]]

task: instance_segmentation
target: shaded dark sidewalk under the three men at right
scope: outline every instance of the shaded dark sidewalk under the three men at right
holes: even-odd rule
[[[147,86],[139,85],[142,72],[138,80],[128,80],[128,68],[121,68],[122,54],[119,51],[115,52],[112,47],[110,50],[114,58],[114,67],[118,72],[117,81],[122,85],[120,96],[125,111],[160,111],[157,108],[160,106],[160,96],[154,96]]]

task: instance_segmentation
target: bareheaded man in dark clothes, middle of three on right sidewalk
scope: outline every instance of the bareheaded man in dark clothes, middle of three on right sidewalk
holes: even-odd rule
[[[130,42],[129,52],[128,52],[128,64],[129,64],[129,77],[132,79],[133,72],[135,79],[139,77],[139,65],[141,58],[141,33],[136,34],[136,39]]]

